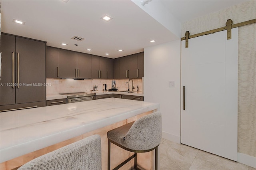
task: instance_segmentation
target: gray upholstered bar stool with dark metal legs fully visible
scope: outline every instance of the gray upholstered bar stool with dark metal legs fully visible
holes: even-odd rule
[[[113,170],[121,168],[134,158],[134,168],[137,170],[137,153],[155,150],[155,170],[157,170],[157,147],[162,137],[161,113],[146,115],[137,121],[108,131],[108,170],[110,170],[110,144],[134,152],[130,158],[116,166]]]

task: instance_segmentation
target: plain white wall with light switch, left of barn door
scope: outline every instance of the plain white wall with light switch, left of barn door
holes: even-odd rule
[[[162,137],[180,143],[180,40],[144,48],[144,101],[160,103]]]

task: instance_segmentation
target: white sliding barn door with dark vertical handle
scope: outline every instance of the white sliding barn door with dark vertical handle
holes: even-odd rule
[[[181,143],[237,161],[238,28],[181,48]]]

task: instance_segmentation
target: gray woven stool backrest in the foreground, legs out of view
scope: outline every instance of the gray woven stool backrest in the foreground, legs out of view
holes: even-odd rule
[[[101,170],[101,140],[95,134],[39,156],[18,170]]]

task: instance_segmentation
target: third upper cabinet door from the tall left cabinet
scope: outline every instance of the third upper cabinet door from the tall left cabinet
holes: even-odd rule
[[[77,53],[77,78],[92,78],[92,55]]]

